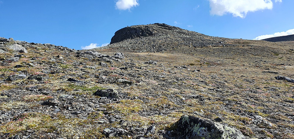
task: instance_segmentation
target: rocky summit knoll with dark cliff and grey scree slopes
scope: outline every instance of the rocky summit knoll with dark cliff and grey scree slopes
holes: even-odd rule
[[[209,46],[234,46],[225,38],[212,37],[167,24],[129,26],[115,32],[110,45],[96,48],[116,52],[181,51]]]

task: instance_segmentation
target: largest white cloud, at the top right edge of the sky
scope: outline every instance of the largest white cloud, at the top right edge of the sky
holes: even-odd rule
[[[282,0],[275,0],[282,2]],[[222,16],[226,13],[233,14],[234,17],[245,18],[248,12],[263,9],[273,9],[272,0],[209,0],[212,15]]]

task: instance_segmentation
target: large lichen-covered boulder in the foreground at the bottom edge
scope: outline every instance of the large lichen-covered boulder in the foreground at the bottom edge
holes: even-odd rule
[[[177,139],[245,139],[237,129],[188,115],[180,118],[177,131]]]

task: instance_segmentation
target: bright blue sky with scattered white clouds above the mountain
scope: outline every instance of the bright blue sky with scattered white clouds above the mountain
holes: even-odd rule
[[[294,34],[293,6],[293,0],[0,0],[0,36],[79,50],[110,43],[126,26],[165,23],[261,39]]]

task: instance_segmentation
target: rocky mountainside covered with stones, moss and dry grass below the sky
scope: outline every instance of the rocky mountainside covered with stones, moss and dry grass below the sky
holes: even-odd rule
[[[0,138],[294,138],[294,42],[126,30],[83,51],[0,38]]]

